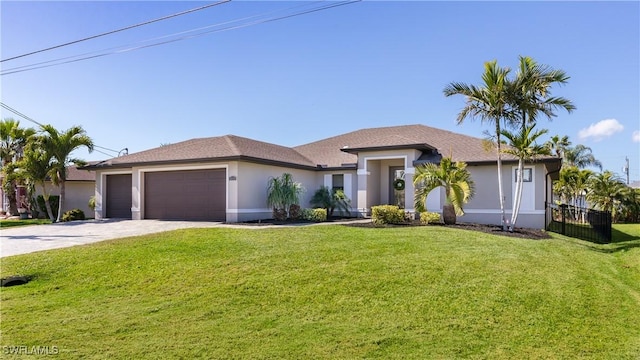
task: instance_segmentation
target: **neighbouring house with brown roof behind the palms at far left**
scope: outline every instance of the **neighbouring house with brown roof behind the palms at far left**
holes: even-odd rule
[[[60,195],[60,188],[53,185],[49,180],[45,182],[49,195]],[[67,167],[67,181],[65,182],[65,208],[63,211],[72,209],[82,210],[87,217],[93,217],[94,211],[89,208],[89,198],[96,192],[96,174],[93,171],[78,170],[75,166]],[[8,210],[9,203],[6,195],[0,187],[0,198],[2,199],[2,210]],[[36,187],[36,196],[42,195],[42,187]],[[42,209],[46,211],[45,209]]]

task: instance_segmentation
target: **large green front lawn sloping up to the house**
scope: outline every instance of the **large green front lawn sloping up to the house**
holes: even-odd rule
[[[2,289],[0,345],[87,359],[638,359],[640,239],[616,229],[634,238],[213,228],[14,256],[2,276],[33,280]]]

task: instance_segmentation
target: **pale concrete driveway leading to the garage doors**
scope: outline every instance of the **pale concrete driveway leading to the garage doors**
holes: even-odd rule
[[[219,222],[163,220],[88,220],[0,229],[0,257],[90,244],[185,228],[220,226]]]

